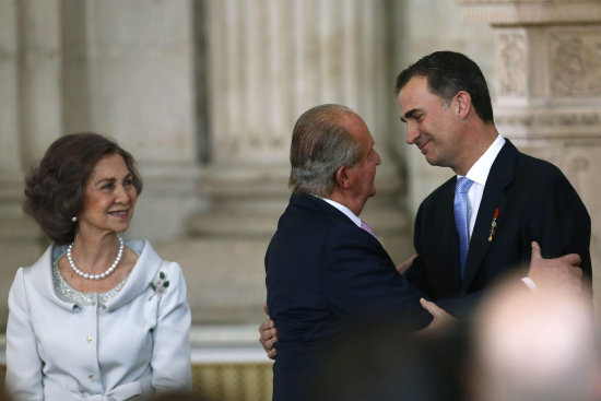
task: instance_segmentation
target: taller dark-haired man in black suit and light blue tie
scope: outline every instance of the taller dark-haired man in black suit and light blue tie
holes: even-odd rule
[[[537,240],[547,258],[578,253],[590,287],[591,223],[585,205],[557,167],[520,153],[498,133],[475,62],[436,51],[403,70],[397,91],[406,142],[431,165],[456,173],[420,205],[419,256],[408,280],[433,300],[455,298],[455,306],[445,308],[462,316],[500,274],[525,266]],[[469,188],[463,202],[459,181]],[[535,286],[529,279],[525,283]]]

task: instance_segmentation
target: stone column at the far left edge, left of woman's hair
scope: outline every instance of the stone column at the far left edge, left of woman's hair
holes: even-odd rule
[[[39,237],[22,211],[23,179],[62,131],[59,16],[59,0],[0,4],[0,241],[11,246]],[[2,253],[7,266],[19,257]]]

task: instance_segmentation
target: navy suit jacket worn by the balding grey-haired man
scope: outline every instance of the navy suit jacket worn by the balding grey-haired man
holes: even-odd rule
[[[278,327],[273,400],[310,400],[320,361],[350,329],[398,321],[413,330],[432,319],[380,243],[310,194],[291,197],[266,272]]]

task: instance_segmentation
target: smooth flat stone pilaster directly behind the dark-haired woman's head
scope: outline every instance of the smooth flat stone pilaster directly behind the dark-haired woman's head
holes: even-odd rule
[[[201,208],[189,0],[63,0],[64,121],[107,134],[137,158],[145,186],[130,237],[185,232]]]

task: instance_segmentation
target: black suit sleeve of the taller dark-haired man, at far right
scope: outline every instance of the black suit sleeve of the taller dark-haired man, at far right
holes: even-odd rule
[[[532,240],[539,241],[543,258],[556,258],[578,253],[584,279],[590,286],[592,269],[590,260],[591,221],[585,204],[567,178],[553,167],[554,174],[540,184],[529,202],[523,237],[523,260],[530,261]]]

